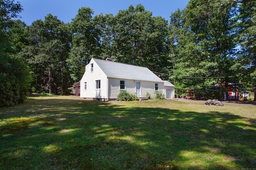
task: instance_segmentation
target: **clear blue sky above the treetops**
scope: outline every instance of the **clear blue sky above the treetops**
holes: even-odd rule
[[[65,23],[71,22],[78,13],[78,9],[85,6],[94,11],[94,15],[103,13],[116,15],[119,10],[126,10],[132,4],[142,4],[144,8],[152,12],[153,16],[162,16],[170,20],[170,15],[178,8],[183,10],[189,0],[18,0],[23,6],[19,15],[20,20],[27,25],[35,20],[44,20],[47,14],[57,16]]]

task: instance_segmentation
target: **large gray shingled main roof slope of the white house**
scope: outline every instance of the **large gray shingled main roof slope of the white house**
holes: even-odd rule
[[[156,76],[156,74],[154,74],[146,67],[116,63],[100,59],[93,60],[96,64],[98,64],[98,66],[102,69],[107,77],[163,82],[161,78]]]

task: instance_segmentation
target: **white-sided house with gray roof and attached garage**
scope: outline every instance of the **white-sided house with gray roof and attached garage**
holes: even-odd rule
[[[120,90],[126,90],[138,98],[146,97],[147,92],[154,98],[155,90],[160,90],[172,98],[174,86],[166,83],[146,67],[93,58],[80,81],[80,97],[108,101],[116,99]]]

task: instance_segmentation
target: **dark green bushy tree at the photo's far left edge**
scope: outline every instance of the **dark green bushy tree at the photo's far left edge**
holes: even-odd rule
[[[22,103],[28,95],[30,70],[18,55],[22,39],[14,29],[24,31],[24,23],[12,21],[22,11],[20,3],[0,1],[0,106]]]

